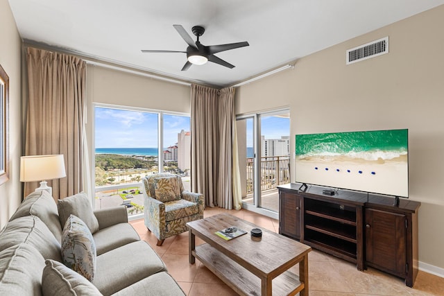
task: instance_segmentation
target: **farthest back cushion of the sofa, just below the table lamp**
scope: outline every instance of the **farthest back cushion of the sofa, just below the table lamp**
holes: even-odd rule
[[[31,215],[39,217],[53,235],[56,236],[56,239],[60,241],[62,238],[62,227],[58,219],[57,204],[48,191],[34,191],[28,195],[17,211],[15,211],[15,214],[12,215],[10,221]]]

